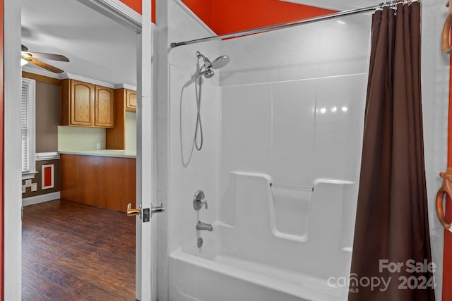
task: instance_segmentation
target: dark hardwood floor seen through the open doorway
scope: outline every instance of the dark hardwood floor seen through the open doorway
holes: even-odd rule
[[[135,219],[64,200],[24,207],[22,300],[135,300]]]

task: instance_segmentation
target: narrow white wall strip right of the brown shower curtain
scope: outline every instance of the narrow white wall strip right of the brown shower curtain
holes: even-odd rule
[[[441,300],[444,228],[436,217],[435,197],[440,171],[447,164],[449,56],[441,52],[441,31],[447,8],[438,1],[422,1],[422,113],[424,156],[429,199],[432,261],[436,264],[436,300]]]

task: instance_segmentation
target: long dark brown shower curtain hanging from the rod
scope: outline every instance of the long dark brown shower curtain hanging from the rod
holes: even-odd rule
[[[434,300],[422,139],[420,3],[372,18],[349,301]]]

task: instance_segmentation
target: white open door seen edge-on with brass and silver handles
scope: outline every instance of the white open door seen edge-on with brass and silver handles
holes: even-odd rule
[[[137,54],[136,204],[141,204],[141,216],[136,217],[136,298],[141,301],[155,301],[157,300],[156,235],[151,235],[156,233],[152,204],[156,195],[153,176],[154,127],[151,97],[153,33],[150,0],[143,0],[142,5],[142,32],[138,35]]]

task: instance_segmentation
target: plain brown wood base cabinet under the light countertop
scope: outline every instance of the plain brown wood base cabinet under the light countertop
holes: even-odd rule
[[[61,198],[126,212],[136,202],[136,159],[61,154]]]

